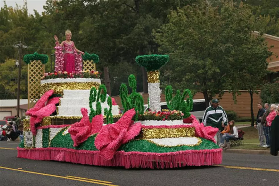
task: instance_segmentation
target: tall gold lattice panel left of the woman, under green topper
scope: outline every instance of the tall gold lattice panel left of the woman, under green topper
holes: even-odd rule
[[[44,64],[40,60],[28,64],[28,109],[32,108],[41,96],[41,78],[44,75]]]

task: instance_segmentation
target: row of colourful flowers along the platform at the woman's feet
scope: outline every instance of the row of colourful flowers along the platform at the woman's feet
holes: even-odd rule
[[[78,73],[68,73],[67,71],[58,71],[58,72],[47,72],[42,77],[42,80],[45,79],[55,79],[55,78],[100,78],[101,73],[94,70],[83,70]]]

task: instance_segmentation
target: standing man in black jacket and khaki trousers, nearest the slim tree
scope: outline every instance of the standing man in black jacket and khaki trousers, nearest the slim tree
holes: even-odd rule
[[[259,135],[259,141],[260,141],[260,146],[263,147],[264,144],[264,127],[261,123],[262,120],[262,116],[264,115],[264,108],[262,108],[262,103],[258,103],[257,104],[258,107],[258,114],[257,114],[257,119],[256,119],[256,123],[255,123],[255,128],[258,130],[258,135]]]

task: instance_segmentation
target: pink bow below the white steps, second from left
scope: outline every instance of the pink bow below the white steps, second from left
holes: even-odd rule
[[[92,134],[98,133],[103,126],[102,115],[95,116],[90,123],[87,109],[81,108],[81,112],[83,117],[80,122],[76,122],[68,130],[74,141],[74,147],[86,141]]]

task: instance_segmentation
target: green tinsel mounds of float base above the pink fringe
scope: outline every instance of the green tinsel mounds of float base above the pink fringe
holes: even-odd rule
[[[65,128],[66,130],[66,128]],[[58,148],[68,148],[68,149],[77,149],[77,150],[90,150],[96,151],[98,150],[95,145],[95,137],[97,134],[90,136],[85,142],[83,142],[78,147],[74,147],[74,142],[71,138],[71,135],[68,133],[66,135],[62,135],[64,130],[60,131],[54,139],[50,143],[50,147],[58,147]],[[43,131],[43,147],[46,147],[46,143],[48,141],[48,130]],[[46,139],[45,139],[46,138]],[[121,145],[119,148],[125,152],[131,151],[139,151],[139,152],[155,152],[155,153],[164,153],[164,152],[175,152],[175,151],[184,151],[184,150],[201,150],[201,149],[217,149],[219,148],[212,141],[201,138],[201,144],[198,146],[190,147],[190,146],[178,146],[178,147],[161,147],[154,143],[150,143],[147,140],[132,140],[129,143]],[[24,143],[23,143],[24,144]],[[20,147],[23,147],[23,144],[20,144]]]

